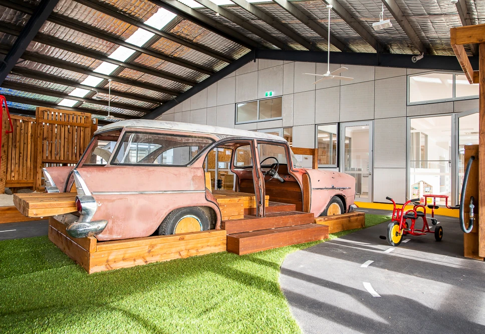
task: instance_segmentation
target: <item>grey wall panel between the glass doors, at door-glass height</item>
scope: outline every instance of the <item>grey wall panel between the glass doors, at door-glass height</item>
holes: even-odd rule
[[[406,168],[406,117],[374,121],[374,167]]]

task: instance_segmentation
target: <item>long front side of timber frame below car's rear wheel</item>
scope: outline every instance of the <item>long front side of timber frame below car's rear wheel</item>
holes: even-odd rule
[[[226,236],[220,230],[198,232],[205,237],[142,245],[91,253],[89,273],[127,268],[152,262],[168,261],[195,255],[221,252],[226,249]],[[225,231],[224,231],[225,232]]]

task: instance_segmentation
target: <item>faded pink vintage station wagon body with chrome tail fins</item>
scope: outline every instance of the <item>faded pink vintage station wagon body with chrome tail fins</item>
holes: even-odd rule
[[[111,157],[106,158],[108,160],[104,165],[88,166],[85,163],[86,152],[90,152],[94,148],[93,145],[97,145],[97,136],[101,138],[110,131],[120,133]],[[116,164],[114,161],[119,159],[119,155],[118,158],[115,157],[116,152],[123,145],[120,144],[122,138],[128,133],[197,136],[207,138],[210,144],[198,152],[186,166]],[[260,143],[285,148],[288,164],[283,176],[288,182],[296,182],[300,186],[303,198],[301,210],[319,216],[334,196],[342,200],[345,212],[353,210],[355,179],[344,173],[294,166],[291,148],[281,137],[246,130],[166,121],[128,120],[101,128],[95,133],[91,144],[74,169],[50,167],[44,171],[46,187],[48,191],[69,192],[75,183],[77,199],[82,206],[80,215],[65,214],[58,218],[68,225],[68,232],[72,230],[70,234],[76,237],[94,235],[100,241],[146,237],[159,228],[170,212],[185,207],[202,208],[213,220],[212,226],[219,228],[219,206],[205,183],[203,164],[206,156],[219,145],[250,145],[252,152],[255,153]],[[127,145],[132,144],[128,142]],[[110,152],[104,153],[107,157]],[[259,166],[258,154],[254,154],[253,159],[256,162],[254,165]],[[239,169],[233,162],[234,154],[231,171],[237,176],[236,183],[252,179],[254,189],[259,190],[255,193],[261,203],[261,198],[264,198],[265,194],[265,184],[275,180],[268,181],[268,175],[263,176],[261,168]],[[262,182],[262,179],[265,181]],[[271,184],[278,187],[278,182]],[[237,189],[238,185],[235,188]],[[258,205],[258,215],[264,216],[264,210],[264,205]]]

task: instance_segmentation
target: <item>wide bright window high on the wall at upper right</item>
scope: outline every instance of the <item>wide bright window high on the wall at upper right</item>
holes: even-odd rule
[[[408,79],[409,104],[478,96],[478,84],[470,85],[461,74],[426,73]]]

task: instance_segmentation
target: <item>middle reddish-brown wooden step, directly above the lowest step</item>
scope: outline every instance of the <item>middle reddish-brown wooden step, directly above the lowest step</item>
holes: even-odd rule
[[[266,230],[285,226],[311,224],[314,222],[313,213],[300,211],[272,212],[266,217],[254,215],[244,216],[244,219],[224,220],[220,228],[225,229],[227,234]]]

